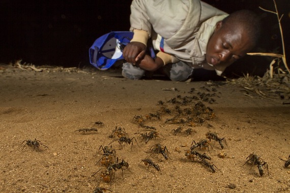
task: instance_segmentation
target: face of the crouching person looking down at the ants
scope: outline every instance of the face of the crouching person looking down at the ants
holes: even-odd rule
[[[253,45],[242,26],[233,28],[223,26],[222,21],[216,24],[214,34],[207,46],[206,60],[212,65],[226,65],[243,57]]]

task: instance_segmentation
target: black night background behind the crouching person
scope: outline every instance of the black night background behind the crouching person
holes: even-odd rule
[[[261,6],[274,11],[272,0],[205,0],[205,2],[227,13],[240,9],[255,11],[262,16],[264,28],[259,46],[253,51],[282,53],[276,15],[258,8]],[[288,36],[290,1],[276,0],[276,3],[280,14],[284,14],[282,27],[287,54],[290,50]],[[129,30],[130,4],[129,0],[2,0],[0,62],[8,63],[22,59],[35,65],[88,66],[88,50],[98,37],[109,31]],[[271,60],[261,56],[246,56],[228,68],[227,72],[237,75],[247,72],[252,75],[263,75]]]

